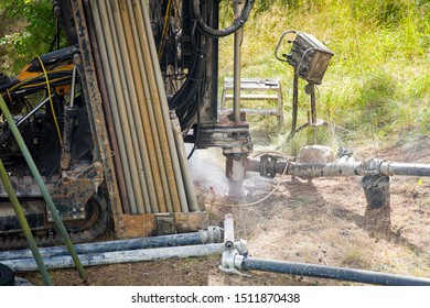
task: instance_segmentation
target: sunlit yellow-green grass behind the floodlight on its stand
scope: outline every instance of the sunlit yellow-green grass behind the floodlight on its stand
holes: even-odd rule
[[[222,8],[225,24],[230,11]],[[287,116],[283,136],[291,119],[292,68],[277,61],[273,51],[286,30],[311,33],[335,54],[319,86],[320,118],[355,131],[361,139],[429,134],[429,0],[257,1],[245,28],[241,74],[281,77]],[[288,53],[290,46],[282,48]],[[221,40],[221,82],[233,75],[232,50],[233,37]],[[299,123],[305,121],[309,109],[304,85],[299,86]],[[266,121],[276,124],[271,118]],[[279,135],[275,124],[259,127]]]

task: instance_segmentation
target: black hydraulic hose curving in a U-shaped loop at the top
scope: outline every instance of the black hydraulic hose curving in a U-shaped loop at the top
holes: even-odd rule
[[[200,11],[200,0],[193,0],[193,14],[195,21],[198,24],[198,30],[204,35],[209,37],[224,37],[235,33],[246,23],[246,21],[249,18],[250,11],[252,10],[252,7],[254,7],[254,0],[246,0],[246,4],[241,10],[239,16],[235,19],[232,25],[221,30],[213,29],[206,24]]]

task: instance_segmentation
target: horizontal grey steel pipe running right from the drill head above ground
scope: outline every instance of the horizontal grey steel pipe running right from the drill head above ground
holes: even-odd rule
[[[291,163],[275,162],[270,166],[271,174],[287,174],[301,177],[335,177],[335,176],[430,176],[430,164],[390,163],[379,160],[369,162],[338,163]],[[284,168],[287,172],[284,173]],[[248,172],[261,172],[261,162],[249,160],[246,163]]]

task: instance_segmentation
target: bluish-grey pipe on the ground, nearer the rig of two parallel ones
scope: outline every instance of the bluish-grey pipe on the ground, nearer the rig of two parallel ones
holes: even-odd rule
[[[96,242],[75,245],[78,254],[96,254],[112,251],[130,251],[166,246],[185,246],[212,244],[221,242],[221,228],[212,227],[208,230],[182,233],[173,235],[160,235],[153,238],[138,238],[130,240]],[[52,258],[61,255],[66,255],[65,246],[42,248],[39,250],[43,257]],[[0,262],[11,260],[31,258],[32,254],[29,250],[3,251],[0,252]]]

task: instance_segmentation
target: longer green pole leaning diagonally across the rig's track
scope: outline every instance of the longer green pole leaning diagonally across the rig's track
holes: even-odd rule
[[[50,210],[50,212],[55,221],[55,226],[56,226],[64,243],[66,244],[68,252],[71,253],[72,260],[73,260],[74,264],[76,265],[77,271],[79,272],[80,278],[86,279],[87,274],[86,274],[86,272],[85,272],[85,270],[79,261],[79,257],[76,254],[75,248],[72,244],[71,237],[68,235],[66,228],[64,227],[64,223],[60,217],[60,213],[55,208],[54,201],[51,198],[50,191],[47,191],[46,185],[43,183],[43,178],[42,178],[41,174],[39,173],[37,166],[35,165],[33,157],[31,156],[30,151],[25,145],[24,140],[23,140],[20,131],[18,130],[15,122],[13,121],[12,114],[10,113],[10,111],[9,111],[7,105],[1,96],[0,96],[0,109],[3,112],[6,120],[8,121],[9,129],[11,130],[11,132],[12,132],[12,134],[18,143],[18,146],[21,150],[22,155],[25,158],[25,162],[29,165],[29,168],[30,168],[35,182],[37,183],[39,188],[41,189],[42,196],[45,199],[46,206],[47,206],[47,208],[49,208],[49,210]]]

